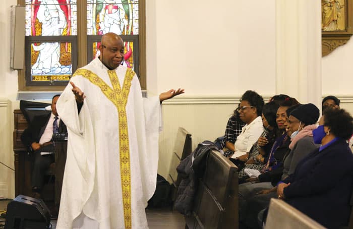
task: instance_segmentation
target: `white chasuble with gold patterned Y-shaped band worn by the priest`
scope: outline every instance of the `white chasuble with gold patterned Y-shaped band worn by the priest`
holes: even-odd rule
[[[56,103],[69,133],[56,228],[72,228],[81,213],[100,229],[148,228],[145,207],[156,187],[159,97],[142,98],[132,70],[108,70],[98,58],[71,81],[86,98],[79,113],[68,84]]]

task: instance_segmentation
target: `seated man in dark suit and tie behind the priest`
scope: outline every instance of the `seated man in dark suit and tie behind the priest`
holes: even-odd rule
[[[21,136],[23,144],[29,152],[34,153],[35,157],[32,171],[32,189],[35,198],[40,198],[45,172],[54,162],[53,154],[41,155],[41,152],[53,152],[53,134],[66,132],[66,126],[56,111],[56,101],[59,96],[54,95],[51,100],[51,113],[35,117]]]

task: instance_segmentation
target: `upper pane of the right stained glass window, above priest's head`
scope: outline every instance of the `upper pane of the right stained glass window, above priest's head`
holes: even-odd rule
[[[138,12],[137,0],[87,0],[87,34],[137,35]]]

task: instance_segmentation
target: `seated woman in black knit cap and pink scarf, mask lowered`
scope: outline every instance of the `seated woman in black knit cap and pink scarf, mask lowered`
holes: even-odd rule
[[[319,109],[314,104],[308,103],[298,105],[290,113],[287,113],[287,115],[289,118],[285,126],[291,133],[291,143],[289,145],[291,151],[283,162],[282,179],[294,173],[298,162],[319,147],[318,144],[314,143],[312,134],[312,131],[316,129],[314,124],[319,119]],[[271,188],[271,183],[265,183],[269,189],[263,189],[265,186],[260,186],[258,189],[253,188],[251,191],[245,192],[241,187],[239,188],[239,197],[240,199],[242,198],[243,203],[242,212],[241,210],[239,211],[240,221],[248,227],[257,227],[257,215],[259,211],[268,207],[270,199],[276,197],[277,186]],[[246,195],[241,195],[243,192],[246,193]]]

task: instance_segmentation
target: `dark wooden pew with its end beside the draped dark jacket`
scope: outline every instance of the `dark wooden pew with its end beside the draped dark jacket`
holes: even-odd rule
[[[216,150],[208,155],[185,228],[238,228],[238,168]]]

